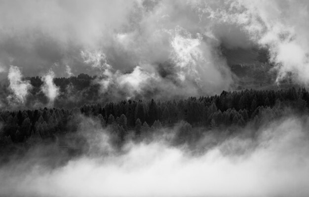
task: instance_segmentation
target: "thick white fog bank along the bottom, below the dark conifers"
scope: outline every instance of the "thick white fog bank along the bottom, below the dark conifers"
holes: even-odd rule
[[[106,129],[84,118],[82,154],[57,162],[67,157],[63,148],[38,145],[12,157],[0,167],[0,196],[306,197],[308,124],[308,117],[282,118],[232,135],[209,130],[194,149],[170,143],[175,127],[119,151]]]

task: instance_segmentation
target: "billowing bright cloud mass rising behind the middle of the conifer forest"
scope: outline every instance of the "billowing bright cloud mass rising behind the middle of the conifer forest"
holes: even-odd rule
[[[115,71],[102,50],[81,51],[81,56],[85,64],[103,76],[98,80],[101,92],[120,99],[121,96],[173,98],[218,93],[230,88],[232,75],[226,61],[212,49],[218,42],[199,34],[193,38],[178,26],[165,33],[169,37],[168,61],[159,68],[157,64],[141,61],[127,72]],[[162,72],[169,74],[162,76]]]

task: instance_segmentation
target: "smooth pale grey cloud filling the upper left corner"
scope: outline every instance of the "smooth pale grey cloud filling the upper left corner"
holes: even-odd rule
[[[81,73],[79,50],[101,47],[113,31],[128,24],[128,15],[135,6],[134,1],[125,0],[0,3],[1,60],[7,64],[8,57],[13,57],[14,64],[24,63],[23,67],[29,70],[27,75],[34,69],[45,73],[54,62],[63,69],[66,63],[73,63]]]

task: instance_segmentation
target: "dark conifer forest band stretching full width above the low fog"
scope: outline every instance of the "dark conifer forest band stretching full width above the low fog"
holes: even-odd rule
[[[115,134],[116,141],[121,142],[128,134],[145,136],[156,128],[173,126],[180,121],[181,136],[186,138],[192,135],[194,127],[244,126],[248,122],[259,125],[285,115],[285,109],[292,109],[293,113],[307,113],[308,107],[308,91],[290,88],[223,91],[220,95],[169,101],[124,100],[105,105],[86,104],[70,110],[2,111],[0,144],[75,132],[81,121],[80,114],[108,127]]]

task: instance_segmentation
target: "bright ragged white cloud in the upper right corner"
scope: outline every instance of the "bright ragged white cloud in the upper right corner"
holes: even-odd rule
[[[253,44],[267,46],[278,80],[293,73],[295,80],[308,85],[308,6],[304,0],[226,0],[212,8],[206,5],[201,12],[214,22],[238,27]]]

